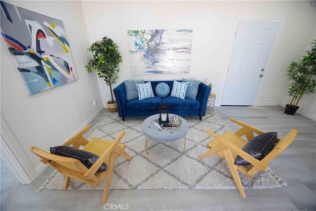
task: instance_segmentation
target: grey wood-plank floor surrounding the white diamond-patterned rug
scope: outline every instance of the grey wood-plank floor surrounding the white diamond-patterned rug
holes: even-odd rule
[[[290,211],[316,210],[316,122],[301,115],[286,115],[278,106],[221,106],[215,111],[234,131],[231,117],[265,131],[283,136],[296,127],[294,142],[285,149],[270,168],[287,186],[274,189],[245,190],[242,198],[234,190],[110,190],[105,208],[101,206],[102,191],[42,190],[35,192],[48,178],[46,168],[31,184],[22,185],[1,165],[1,211]],[[91,125],[106,112],[104,109]],[[141,143],[143,144],[143,143]],[[3,167],[3,168],[2,168]],[[111,206],[113,206],[111,209]],[[115,207],[117,206],[117,207]],[[118,210],[118,209],[116,209]]]

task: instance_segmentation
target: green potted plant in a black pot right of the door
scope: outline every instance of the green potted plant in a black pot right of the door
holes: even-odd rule
[[[298,62],[292,62],[286,69],[288,79],[287,95],[292,96],[289,104],[285,107],[285,114],[294,115],[299,109],[299,101],[305,94],[315,93],[316,87],[316,40],[312,42],[311,50],[306,51]]]

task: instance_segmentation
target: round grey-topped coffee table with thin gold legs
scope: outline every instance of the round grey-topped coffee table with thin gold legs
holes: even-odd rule
[[[174,116],[175,114],[169,114],[169,118]],[[187,132],[189,130],[189,125],[185,119],[181,117],[182,124],[177,129],[165,129],[160,130],[156,127],[152,122],[159,119],[159,114],[155,114],[146,118],[142,124],[142,130],[145,135],[145,150],[146,154],[148,155],[148,146],[147,142],[149,139],[158,142],[169,142],[169,141],[176,141],[180,140],[184,137],[184,150],[186,151],[186,141],[187,141]]]

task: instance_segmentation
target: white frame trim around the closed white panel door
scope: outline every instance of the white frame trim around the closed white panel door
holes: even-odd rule
[[[271,62],[270,58],[275,53],[276,41],[278,40],[280,31],[283,28],[283,19],[284,19],[284,17],[279,17],[278,16],[278,17],[267,18],[267,19],[255,19],[255,18],[254,19],[243,19],[243,18],[239,18],[239,19],[236,19],[234,21],[234,24],[233,24],[233,27],[232,27],[231,39],[229,41],[229,49],[230,50],[227,52],[227,59],[226,59],[225,66],[224,66],[224,70],[226,70],[226,71],[225,71],[225,73],[223,74],[223,77],[222,77],[219,99],[217,100],[217,103],[216,103],[217,105],[216,106],[221,106],[221,104],[222,104],[222,98],[223,98],[225,83],[226,83],[226,79],[227,79],[227,75],[228,75],[228,68],[229,68],[229,64],[230,64],[230,61],[231,61],[231,57],[232,57],[232,52],[233,52],[234,42],[235,42],[235,38],[236,38],[235,35],[237,33],[238,23],[239,22],[268,22],[268,21],[270,21],[270,22],[272,22],[272,21],[279,21],[280,22],[280,25],[279,25],[279,28],[278,28],[278,31],[277,31],[277,34],[276,34],[275,43],[273,44],[273,47],[272,47],[272,50],[271,50],[271,53],[270,53],[270,57],[269,57],[269,60],[268,60],[268,63],[267,63],[267,67],[265,68],[265,72],[269,72],[269,70],[270,70],[270,62]],[[277,105],[280,105],[279,103],[258,103],[257,102],[258,96],[261,95],[263,84],[266,81],[265,78],[266,77],[263,77],[263,79],[262,79],[262,82],[261,82],[261,84],[259,86],[259,90],[258,90],[256,99],[255,99],[255,102],[254,102],[253,105],[254,106],[277,106]]]

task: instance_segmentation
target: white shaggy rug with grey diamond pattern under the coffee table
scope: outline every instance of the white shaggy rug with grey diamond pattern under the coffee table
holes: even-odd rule
[[[126,118],[123,122],[117,113],[106,113],[88,132],[86,138],[114,140],[121,131],[126,134],[120,141],[126,145],[126,152],[132,157],[128,161],[119,157],[114,168],[110,189],[153,190],[153,189],[236,189],[235,182],[226,162],[217,155],[203,160],[198,157],[207,151],[206,143],[211,138],[207,129],[216,134],[232,129],[214,111],[207,111],[199,121],[198,117],[184,117],[189,124],[186,152],[183,142],[156,142],[149,140],[148,155],[145,152],[145,137],[141,124],[145,118]],[[245,189],[276,188],[286,185],[268,168],[258,171],[252,178],[239,173]],[[42,189],[61,190],[64,176],[54,171],[37,192]],[[103,189],[72,179],[68,189]]]

